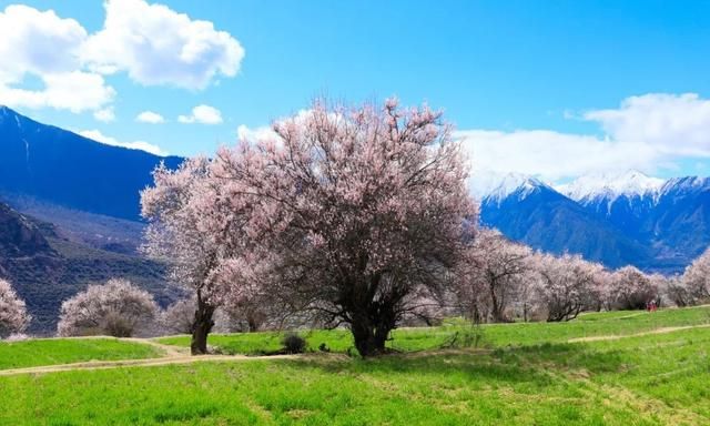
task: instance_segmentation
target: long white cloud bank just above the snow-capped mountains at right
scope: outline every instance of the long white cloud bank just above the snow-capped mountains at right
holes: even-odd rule
[[[571,116],[571,115],[570,115]],[[555,182],[630,169],[655,173],[679,159],[710,156],[710,100],[697,94],[646,94],[619,108],[579,116],[601,136],[549,130],[462,130],[474,174],[519,172]]]

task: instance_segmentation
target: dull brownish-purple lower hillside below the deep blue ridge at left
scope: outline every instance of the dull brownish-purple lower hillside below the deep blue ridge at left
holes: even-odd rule
[[[62,301],[89,284],[126,277],[166,305],[180,291],[165,267],[138,255],[113,253],[62,236],[58,226],[0,203],[0,277],[10,280],[33,316],[31,333],[54,331]]]

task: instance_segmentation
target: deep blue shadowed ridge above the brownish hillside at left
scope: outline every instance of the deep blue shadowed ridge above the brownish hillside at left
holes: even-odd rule
[[[139,191],[161,161],[182,159],[105,145],[0,106],[0,191],[138,221]]]

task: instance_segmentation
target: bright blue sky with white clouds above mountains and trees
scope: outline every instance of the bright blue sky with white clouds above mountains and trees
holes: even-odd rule
[[[555,182],[626,169],[659,176],[710,174],[708,1],[131,0],[110,6],[118,2],[23,2],[33,13],[0,0],[0,37],[4,16],[6,22],[27,27],[13,31],[27,31],[22,42],[30,43],[1,37],[0,53],[32,51],[14,61],[22,67],[3,73],[0,64],[0,103],[115,143],[143,141],[192,155],[234,143],[240,125],[267,125],[317,95],[348,102],[397,95],[403,104],[426,101],[444,109],[467,136],[479,169]],[[178,63],[170,57],[174,50],[156,47],[153,53],[165,54],[161,62],[158,53],[141,57],[145,51],[135,45],[118,45],[123,39],[115,36],[118,27],[109,29],[110,16],[123,23],[118,27],[125,29],[120,33],[125,40],[170,39],[170,31],[194,30],[195,21],[214,26],[212,32],[195,30],[206,38],[201,41],[220,39],[217,31],[229,40],[214,41],[194,69],[181,68],[178,75],[171,67]],[[54,34],[61,30],[53,22],[67,20],[75,24]],[[72,31],[77,40],[52,44]],[[194,41],[190,37],[185,43]],[[87,53],[84,43],[92,38]],[[82,59],[58,64],[50,57],[62,49]],[[131,58],[116,59],[121,55]],[[154,67],[142,70],[146,63]],[[42,94],[40,101],[17,92],[41,92],[49,87],[47,74],[72,71],[82,79],[70,91]],[[88,74],[102,82],[91,80],[92,89],[83,90]],[[92,91],[97,94],[89,95]],[[67,92],[85,93],[87,100],[52,99]],[[178,120],[197,105],[217,110],[221,122]],[[206,121],[219,121],[214,110],[205,112]],[[97,111],[104,111],[98,114],[103,121]],[[136,122],[144,111],[165,122]]]

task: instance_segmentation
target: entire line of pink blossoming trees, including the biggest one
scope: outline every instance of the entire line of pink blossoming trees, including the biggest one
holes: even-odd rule
[[[442,114],[395,101],[316,102],[257,141],[160,166],[142,193],[145,251],[193,293],[162,323],[189,331],[193,354],[206,353],[220,311],[250,329],[265,320],[345,325],[371,356],[408,318],[566,321],[643,307],[659,288],[678,305],[710,296],[710,252],[667,280],[535,253],[479,230],[466,179],[467,159]],[[131,335],[156,312],[148,293],[111,281],[67,301],[59,333]],[[0,332],[27,324],[9,317],[0,316]]]

